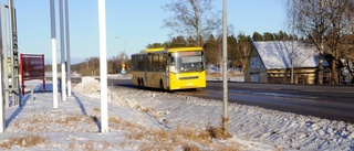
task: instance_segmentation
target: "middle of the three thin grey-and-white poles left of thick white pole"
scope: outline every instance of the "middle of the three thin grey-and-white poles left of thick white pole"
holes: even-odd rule
[[[65,36],[64,36],[64,11],[63,0],[59,0],[59,18],[60,18],[60,51],[62,61],[62,99],[66,100],[66,73],[65,73]]]

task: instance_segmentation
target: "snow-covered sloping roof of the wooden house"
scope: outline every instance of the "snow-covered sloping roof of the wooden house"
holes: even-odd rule
[[[253,42],[253,45],[267,69],[291,68],[292,52],[294,52],[294,68],[319,66],[317,48],[300,41],[294,41],[294,51],[292,41]],[[326,60],[323,66],[330,66]]]

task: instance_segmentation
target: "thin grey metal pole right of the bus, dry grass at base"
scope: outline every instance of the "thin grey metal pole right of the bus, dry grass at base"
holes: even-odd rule
[[[227,0],[222,3],[222,84],[223,84],[223,132],[228,133],[228,66],[227,66]]]

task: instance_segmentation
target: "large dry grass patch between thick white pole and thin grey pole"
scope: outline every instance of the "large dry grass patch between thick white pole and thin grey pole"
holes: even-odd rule
[[[199,151],[200,145],[211,149],[222,149],[226,151],[239,150],[238,144],[225,145],[220,142],[214,142],[212,139],[227,139],[230,134],[225,134],[221,128],[209,127],[205,130],[195,130],[192,127],[177,126],[171,130],[148,129],[118,118],[110,118],[110,125],[114,128],[121,128],[129,131],[126,138],[129,140],[152,141],[142,143],[139,150],[174,150],[183,148],[187,151]]]

